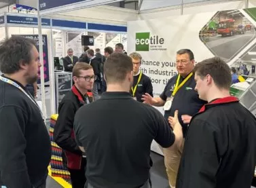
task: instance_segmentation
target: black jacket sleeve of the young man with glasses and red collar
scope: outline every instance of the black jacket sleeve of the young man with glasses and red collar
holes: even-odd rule
[[[75,142],[75,138],[71,138],[75,112],[75,105],[71,100],[64,100],[60,102],[58,119],[54,126],[54,141],[62,149],[72,153],[81,154],[81,151]]]

